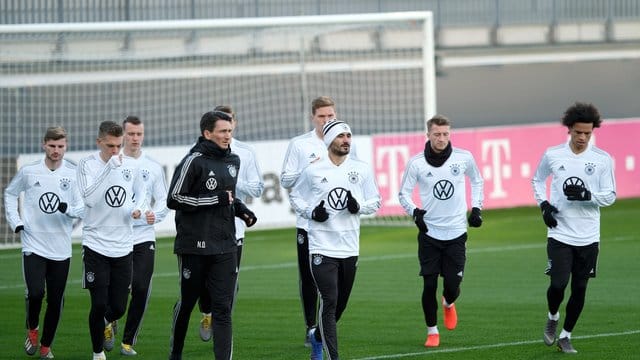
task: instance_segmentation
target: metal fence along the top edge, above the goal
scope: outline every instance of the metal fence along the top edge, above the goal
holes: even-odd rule
[[[640,20],[640,0],[0,0],[0,24],[429,10],[436,28]]]

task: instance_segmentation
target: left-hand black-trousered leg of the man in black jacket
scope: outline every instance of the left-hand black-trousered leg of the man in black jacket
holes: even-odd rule
[[[180,298],[173,307],[171,338],[169,340],[170,358],[180,358],[184,348],[184,338],[189,326],[189,318],[202,288],[203,258],[200,255],[178,254],[178,271],[180,274]]]

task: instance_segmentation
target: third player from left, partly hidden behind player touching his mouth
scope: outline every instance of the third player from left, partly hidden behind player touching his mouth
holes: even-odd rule
[[[144,141],[144,124],[137,116],[127,116],[122,122],[124,161],[138,168],[145,184],[146,199],[153,207],[143,217],[133,223],[133,276],[131,279],[131,300],[127,320],[120,345],[120,354],[136,355],[133,349],[140,325],[151,295],[151,276],[156,252],[156,236],[153,224],[164,220],[169,213],[167,208],[167,183],[162,166],[142,151]],[[109,312],[109,310],[107,310]],[[109,317],[109,315],[107,315]],[[115,322],[107,324],[105,329],[113,347],[116,331]]]

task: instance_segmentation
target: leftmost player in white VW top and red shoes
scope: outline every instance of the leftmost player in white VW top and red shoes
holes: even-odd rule
[[[18,170],[4,190],[7,223],[20,234],[22,272],[26,284],[27,338],[24,350],[33,355],[38,349],[42,300],[47,296],[40,358],[52,359],[53,343],[71,263],[71,231],[74,219],[84,216],[84,203],[78,192],[76,164],[64,159],[67,132],[50,127],[44,134],[44,159]],[[21,211],[18,198],[24,194]],[[45,291],[46,287],[46,291]]]

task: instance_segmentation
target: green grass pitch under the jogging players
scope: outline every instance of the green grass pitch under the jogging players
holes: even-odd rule
[[[425,349],[420,306],[416,230],[363,227],[361,255],[349,306],[338,324],[343,359],[559,359],[542,342],[546,319],[545,227],[536,208],[484,211],[470,229],[459,323],[447,331],[439,312],[441,344]],[[640,358],[640,199],[602,210],[598,277],[589,283],[573,332],[580,359]],[[172,239],[159,239],[153,293],[135,349],[139,359],[166,359],[171,309],[178,295]],[[234,358],[308,359],[298,300],[293,229],[247,234],[240,292],[234,311]],[[0,359],[26,359],[24,285],[18,249],[0,251]],[[65,308],[53,353],[89,359],[89,294],[81,289],[81,258],[74,246]],[[441,288],[441,284],[440,284]],[[564,305],[561,316],[564,314]],[[42,314],[42,316],[44,313]],[[185,359],[212,359],[212,344],[198,337],[193,312]],[[41,321],[42,321],[41,316]],[[120,321],[121,329],[124,321]],[[107,358],[117,352],[121,333]]]

